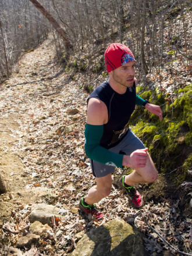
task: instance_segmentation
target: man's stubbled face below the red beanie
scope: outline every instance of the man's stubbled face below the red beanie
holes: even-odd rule
[[[136,62],[131,61],[110,72],[113,80],[118,83],[117,85],[125,87],[133,86],[134,74],[136,72],[135,65]]]

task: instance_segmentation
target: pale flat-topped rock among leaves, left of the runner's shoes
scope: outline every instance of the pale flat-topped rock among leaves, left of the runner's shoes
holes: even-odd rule
[[[31,223],[35,221],[39,221],[42,224],[50,224],[52,223],[52,219],[54,216],[59,219],[64,219],[62,215],[59,215],[59,211],[61,209],[55,207],[54,205],[49,204],[37,204],[34,210],[29,215],[29,221]]]

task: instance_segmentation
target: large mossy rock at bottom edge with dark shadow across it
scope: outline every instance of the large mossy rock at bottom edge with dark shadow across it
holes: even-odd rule
[[[148,256],[144,235],[123,220],[113,220],[85,234],[70,256]]]

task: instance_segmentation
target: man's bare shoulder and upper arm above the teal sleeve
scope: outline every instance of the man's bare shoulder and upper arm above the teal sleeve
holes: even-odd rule
[[[90,98],[87,105],[87,123],[90,125],[104,125],[108,121],[108,110],[104,102],[97,98]]]

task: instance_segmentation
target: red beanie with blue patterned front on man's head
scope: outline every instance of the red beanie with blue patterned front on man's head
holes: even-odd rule
[[[111,44],[105,51],[105,66],[109,73],[130,61],[136,61],[130,49],[123,44]]]

